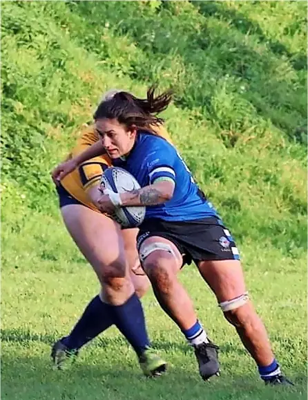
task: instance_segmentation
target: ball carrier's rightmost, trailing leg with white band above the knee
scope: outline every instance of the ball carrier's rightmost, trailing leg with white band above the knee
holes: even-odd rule
[[[292,384],[282,376],[267,331],[249,300],[240,261],[202,261],[198,267],[215,293],[224,317],[235,327],[244,347],[256,361],[264,382]]]

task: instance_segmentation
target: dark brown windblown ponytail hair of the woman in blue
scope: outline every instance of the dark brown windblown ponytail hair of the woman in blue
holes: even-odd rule
[[[164,111],[172,100],[172,91],[165,91],[159,96],[154,96],[155,87],[146,92],[146,99],[140,99],[126,91],[120,91],[109,100],[99,104],[94,120],[99,118],[116,118],[119,123],[127,127],[136,125],[137,129],[146,129],[155,133],[151,125],[160,125],[164,120],[156,116]]]

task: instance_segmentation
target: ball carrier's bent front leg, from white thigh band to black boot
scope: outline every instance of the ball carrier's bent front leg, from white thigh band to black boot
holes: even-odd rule
[[[211,376],[218,375],[218,347],[206,336],[193,309],[191,298],[177,279],[177,272],[182,266],[180,251],[168,239],[153,236],[142,242],[139,257],[160,306],[194,347],[202,379],[206,381]]]

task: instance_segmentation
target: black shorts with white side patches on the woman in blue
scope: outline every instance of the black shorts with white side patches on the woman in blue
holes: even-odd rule
[[[221,219],[209,217],[193,221],[146,219],[139,226],[137,248],[151,236],[169,239],[183,256],[183,263],[210,260],[240,260],[238,248]]]

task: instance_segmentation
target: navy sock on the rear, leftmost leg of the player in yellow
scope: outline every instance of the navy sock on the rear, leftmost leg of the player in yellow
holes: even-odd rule
[[[81,318],[62,343],[69,349],[80,349],[113,324],[112,306],[102,302],[97,295],[89,302]]]

